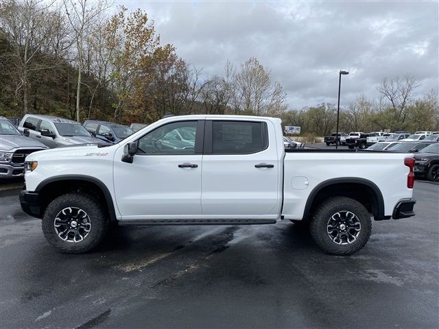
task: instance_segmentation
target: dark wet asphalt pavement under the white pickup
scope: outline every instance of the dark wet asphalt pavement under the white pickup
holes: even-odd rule
[[[438,328],[439,185],[353,256],[268,226],[112,229],[64,255],[0,191],[0,328]]]

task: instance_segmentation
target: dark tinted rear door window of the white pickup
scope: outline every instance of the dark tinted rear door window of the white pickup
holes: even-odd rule
[[[263,122],[212,121],[212,154],[251,154],[268,147]]]

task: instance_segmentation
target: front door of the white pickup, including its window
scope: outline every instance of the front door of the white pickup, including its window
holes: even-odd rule
[[[193,141],[178,141],[174,132],[192,130]],[[174,121],[137,141],[132,163],[115,154],[114,182],[122,220],[191,219],[201,215],[204,121]]]

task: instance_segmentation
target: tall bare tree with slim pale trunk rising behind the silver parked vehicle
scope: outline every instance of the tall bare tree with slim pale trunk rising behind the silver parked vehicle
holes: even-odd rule
[[[84,66],[84,45],[86,36],[93,33],[102,14],[108,9],[106,0],[64,0],[64,8],[73,31],[78,64],[78,84],[76,88],[76,121],[80,121],[81,78]]]

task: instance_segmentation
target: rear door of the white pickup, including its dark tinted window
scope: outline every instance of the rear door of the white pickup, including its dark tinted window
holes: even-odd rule
[[[222,219],[275,219],[281,167],[271,121],[206,121],[202,213]],[[283,143],[281,138],[279,142]],[[282,145],[283,149],[283,145]]]

